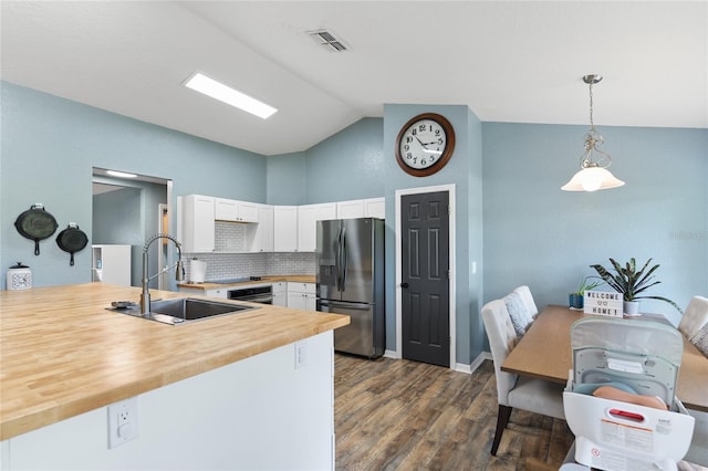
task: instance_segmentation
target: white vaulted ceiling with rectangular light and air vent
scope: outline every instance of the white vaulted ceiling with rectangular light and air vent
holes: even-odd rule
[[[708,2],[2,0],[2,80],[263,155],[384,104],[485,122],[708,127]],[[305,32],[329,29],[350,50]],[[280,111],[181,86],[194,72]]]

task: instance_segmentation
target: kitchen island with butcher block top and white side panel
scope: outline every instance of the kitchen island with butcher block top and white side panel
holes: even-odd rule
[[[333,467],[332,331],[347,316],[253,304],[171,326],[106,310],[138,297],[0,292],[2,469]],[[132,397],[138,437],[108,449],[107,406]]]

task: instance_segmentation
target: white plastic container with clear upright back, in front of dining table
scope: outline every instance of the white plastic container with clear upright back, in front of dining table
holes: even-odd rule
[[[675,396],[680,333],[655,322],[587,317],[571,327],[571,346],[563,406],[575,461],[606,471],[676,470],[694,433],[694,418]],[[658,396],[669,410],[579,393],[606,383]]]

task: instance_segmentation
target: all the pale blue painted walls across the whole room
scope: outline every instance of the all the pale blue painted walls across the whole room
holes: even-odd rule
[[[91,281],[91,254],[53,239],[33,243],[14,219],[43,202],[60,226],[92,239],[92,168],[171,179],[173,201],[205,193],[272,205],[386,197],[386,289],[395,292],[394,197],[398,189],[454,184],[457,220],[458,363],[485,349],[483,302],[529,284],[540,306],[564,304],[587,265],[608,257],[662,264],[656,293],[686,305],[708,295],[708,130],[602,127],[623,188],[563,192],[576,171],[584,126],[480,123],[467,106],[386,105],[304,153],[263,157],[129,119],[7,82],[1,84],[0,263],[30,265],[35,285]],[[456,129],[456,151],[438,174],[415,178],[394,158],[400,127],[437,112]],[[334,177],[334,178],[333,178]],[[482,185],[483,182],[483,185]],[[173,221],[174,224],[174,221]],[[174,232],[173,226],[173,232]],[[477,274],[471,273],[477,261]],[[387,300],[387,348],[395,305]],[[647,310],[674,315],[668,305]]]

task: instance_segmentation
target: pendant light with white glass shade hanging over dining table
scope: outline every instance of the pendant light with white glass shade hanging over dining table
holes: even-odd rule
[[[583,82],[590,86],[590,129],[585,134],[585,151],[580,157],[580,171],[561,187],[565,191],[595,191],[617,188],[624,185],[612,175],[607,167],[612,164],[610,154],[598,147],[604,144],[593,122],[593,85],[602,80],[602,75],[585,75]],[[593,155],[594,153],[594,155]]]

